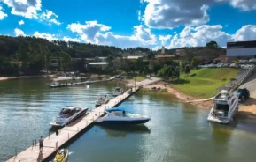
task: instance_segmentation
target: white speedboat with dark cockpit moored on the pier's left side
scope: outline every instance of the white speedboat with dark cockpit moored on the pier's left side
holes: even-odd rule
[[[81,108],[81,107],[61,107],[61,111],[55,119],[53,119],[52,122],[50,122],[50,125],[52,126],[58,126],[63,127],[70,122],[74,122],[76,119],[81,117],[82,115],[86,114],[88,108]]]

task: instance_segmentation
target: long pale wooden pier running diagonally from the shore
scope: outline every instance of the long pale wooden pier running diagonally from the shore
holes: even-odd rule
[[[84,116],[80,122],[77,122],[71,127],[64,127],[58,130],[58,136],[54,133],[47,136],[43,140],[43,151],[39,151],[39,144],[33,144],[27,150],[20,152],[18,155],[7,160],[8,162],[38,162],[43,161],[51,157],[61,148],[64,144],[70,141],[74,136],[80,135],[83,130],[89,129],[89,126],[93,124],[98,117],[105,114],[106,108],[116,107],[120,105],[125,99],[128,99],[131,95],[136,93],[140,87],[133,87],[122,95],[111,99],[107,104],[93,109],[89,114]],[[131,91],[132,90],[132,91]]]

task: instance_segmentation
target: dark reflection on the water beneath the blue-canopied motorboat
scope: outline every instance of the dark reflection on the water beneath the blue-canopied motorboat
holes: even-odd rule
[[[105,125],[99,126],[108,136],[126,137],[128,134],[150,134],[151,129],[145,125]]]

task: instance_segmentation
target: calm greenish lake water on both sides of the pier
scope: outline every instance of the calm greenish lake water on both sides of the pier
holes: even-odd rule
[[[93,108],[97,95],[112,94],[113,82],[50,89],[46,79],[0,82],[0,161],[39,136],[61,106]],[[151,116],[144,126],[93,126],[72,144],[69,161],[243,161],[256,158],[256,122],[206,122],[208,111],[183,104],[167,93],[140,91],[120,105]],[[51,133],[51,132],[50,132]]]

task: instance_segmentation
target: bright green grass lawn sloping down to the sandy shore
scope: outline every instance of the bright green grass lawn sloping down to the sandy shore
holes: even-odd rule
[[[216,89],[226,85],[230,78],[236,77],[238,71],[231,68],[191,70],[190,77],[183,75],[173,86],[190,96],[206,99],[219,92]],[[224,78],[227,79],[225,82],[222,81]]]

